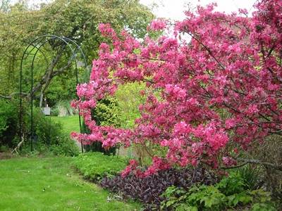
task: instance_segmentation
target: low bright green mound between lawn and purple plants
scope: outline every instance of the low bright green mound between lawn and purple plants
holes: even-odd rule
[[[85,178],[93,181],[116,175],[127,165],[123,158],[99,152],[80,154],[75,158],[74,164]]]

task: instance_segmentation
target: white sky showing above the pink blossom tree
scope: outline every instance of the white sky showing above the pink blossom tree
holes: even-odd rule
[[[158,7],[154,8],[154,13],[159,18],[171,18],[173,20],[183,20],[185,15],[183,11],[187,8],[188,4],[192,7],[197,5],[205,6],[212,2],[216,2],[218,5],[216,11],[225,13],[237,12],[238,8],[246,8],[247,11],[252,13],[252,5],[256,0],[140,0],[140,3],[151,7],[153,4],[157,4]]]

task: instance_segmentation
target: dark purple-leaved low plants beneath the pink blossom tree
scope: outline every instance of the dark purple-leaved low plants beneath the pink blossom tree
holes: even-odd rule
[[[123,193],[125,198],[140,200],[147,205],[147,210],[158,209],[164,200],[161,194],[169,186],[189,188],[192,184],[214,184],[216,177],[211,172],[202,169],[169,169],[140,178],[133,174],[128,177],[105,177],[99,183],[115,193]]]

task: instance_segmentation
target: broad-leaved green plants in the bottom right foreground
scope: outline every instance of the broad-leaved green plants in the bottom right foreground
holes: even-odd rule
[[[242,176],[236,172],[214,186],[195,184],[188,191],[171,186],[162,195],[165,200],[161,202],[161,209],[226,210],[251,207],[251,210],[276,210],[269,192],[262,189],[249,191],[246,187]]]

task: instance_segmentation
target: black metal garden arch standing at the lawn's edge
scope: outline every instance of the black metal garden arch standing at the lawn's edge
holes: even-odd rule
[[[20,139],[23,139],[23,97],[25,96],[23,94],[23,63],[29,56],[32,56],[32,62],[30,64],[30,78],[31,78],[31,86],[30,86],[30,149],[33,151],[33,142],[35,139],[35,132],[34,132],[34,122],[33,122],[33,100],[34,100],[34,68],[35,68],[35,58],[37,56],[37,53],[42,53],[42,56],[44,57],[44,60],[46,63],[48,63],[47,57],[42,52],[42,47],[47,44],[54,41],[57,41],[59,44],[62,44],[63,46],[66,46],[68,50],[71,51],[71,62],[74,61],[75,64],[75,79],[76,84],[79,83],[78,81],[78,61],[81,63],[84,63],[84,67],[87,68],[87,62],[85,58],[85,54],[83,53],[80,46],[73,41],[72,39],[68,39],[67,37],[59,37],[56,35],[43,35],[41,37],[37,37],[34,39],[28,46],[25,48],[25,51],[23,53],[23,56],[20,61],[20,114],[19,114],[19,127],[20,127]],[[78,60],[78,53],[80,53],[80,60]],[[81,118],[80,115],[78,117],[79,120],[79,126],[80,126],[80,132],[81,132]],[[81,151],[83,152],[83,145],[81,143]]]

